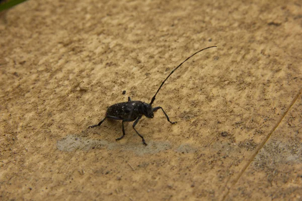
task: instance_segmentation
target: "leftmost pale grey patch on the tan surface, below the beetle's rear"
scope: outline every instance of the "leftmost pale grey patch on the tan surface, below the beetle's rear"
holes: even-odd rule
[[[60,151],[74,151],[74,150],[91,150],[95,148],[101,148],[108,145],[107,141],[94,140],[87,137],[79,137],[76,135],[68,135],[62,140],[56,143],[58,150]]]

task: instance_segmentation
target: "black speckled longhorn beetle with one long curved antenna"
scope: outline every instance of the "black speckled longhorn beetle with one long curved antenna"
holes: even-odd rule
[[[162,86],[164,85],[165,81],[172,75],[172,73],[177,70],[184,62],[186,62],[188,59],[190,59],[192,56],[194,56],[195,54],[212,48],[212,47],[217,47],[217,46],[210,46],[204,49],[201,49],[197,52],[195,52],[194,54],[192,54],[191,56],[189,56],[186,60],[184,60],[181,64],[179,64],[175,69],[173,69],[171,71],[171,73],[168,75],[168,77],[162,82],[161,86],[159,87],[159,89],[156,91],[155,95],[152,97],[151,102],[148,103],[144,103],[141,102],[140,100],[131,100],[130,97],[128,97],[128,102],[123,102],[123,103],[117,103],[114,104],[112,106],[110,106],[107,109],[105,118],[100,121],[99,124],[93,125],[93,126],[89,126],[88,128],[94,128],[97,126],[101,126],[101,124],[105,121],[105,119],[109,118],[109,119],[113,119],[113,120],[121,120],[122,121],[122,131],[123,131],[123,135],[119,138],[116,138],[115,140],[121,140],[124,136],[125,136],[125,129],[124,129],[124,122],[133,122],[132,128],[134,129],[134,131],[136,132],[136,134],[142,139],[142,144],[147,145],[144,138],[142,137],[142,135],[140,135],[138,133],[138,131],[135,129],[135,125],[138,123],[138,121],[141,119],[141,117],[144,115],[147,118],[153,118],[154,117],[154,112],[157,110],[162,110],[163,113],[165,114],[168,122],[170,122],[171,124],[176,124],[177,122],[171,122],[169,119],[169,116],[167,115],[167,113],[164,111],[164,109],[162,107],[155,107],[152,108],[152,104],[155,101],[155,97],[158,94],[158,92],[160,91],[160,89],[162,88]]]

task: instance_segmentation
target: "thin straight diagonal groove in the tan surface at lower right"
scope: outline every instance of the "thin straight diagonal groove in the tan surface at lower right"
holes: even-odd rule
[[[243,169],[241,170],[241,172],[239,173],[239,175],[237,176],[237,178],[235,179],[235,181],[233,182],[233,184],[231,184],[231,187],[226,191],[225,195],[223,195],[221,201],[224,201],[226,196],[229,195],[230,190],[235,186],[235,184],[238,182],[238,180],[240,179],[240,177],[243,175],[243,173],[246,171],[246,169],[250,166],[250,164],[252,163],[252,161],[254,160],[254,158],[256,157],[256,155],[258,154],[258,152],[263,148],[263,146],[266,144],[266,142],[268,141],[268,139],[271,137],[271,135],[275,132],[275,130],[279,127],[280,123],[282,122],[282,120],[284,119],[284,117],[287,115],[287,113],[290,111],[290,109],[292,108],[292,106],[295,104],[296,100],[298,99],[299,95],[302,93],[302,88],[300,88],[300,90],[298,91],[298,93],[294,96],[293,100],[291,101],[289,107],[287,108],[287,110],[285,111],[285,113],[280,117],[280,119],[278,120],[277,124],[271,129],[271,131],[269,132],[269,134],[266,136],[266,138],[264,139],[264,141],[261,143],[261,145],[256,149],[256,152],[250,157],[248,163],[243,167]],[[225,185],[226,186],[226,185]],[[227,186],[226,186],[227,187]],[[228,187],[227,187],[228,188]]]

